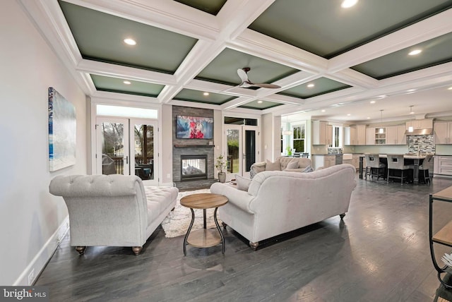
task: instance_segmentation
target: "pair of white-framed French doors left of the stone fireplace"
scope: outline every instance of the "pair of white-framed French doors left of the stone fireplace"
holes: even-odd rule
[[[157,150],[157,121],[97,117],[97,174],[136,175],[158,186]]]

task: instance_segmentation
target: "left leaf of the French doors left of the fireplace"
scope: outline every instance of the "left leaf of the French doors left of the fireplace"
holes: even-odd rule
[[[97,174],[130,175],[129,119],[97,117]]]

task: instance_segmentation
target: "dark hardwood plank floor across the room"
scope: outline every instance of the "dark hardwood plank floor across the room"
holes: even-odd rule
[[[255,252],[229,227],[225,255],[188,246],[184,257],[184,236],[165,238],[161,228],[138,256],[111,247],[79,256],[66,236],[35,285],[49,286],[50,301],[434,301],[429,193],[448,186],[357,177],[343,222],[326,219]],[[434,206],[436,225],[451,219],[452,204]]]

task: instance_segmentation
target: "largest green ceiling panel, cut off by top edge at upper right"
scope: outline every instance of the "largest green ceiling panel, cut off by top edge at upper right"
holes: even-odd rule
[[[330,59],[452,7],[452,0],[278,0],[249,28]]]

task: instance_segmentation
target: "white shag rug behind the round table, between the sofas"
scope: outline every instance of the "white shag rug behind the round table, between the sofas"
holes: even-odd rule
[[[191,222],[191,210],[189,207],[183,207],[180,203],[182,197],[186,195],[196,194],[196,193],[210,193],[209,189],[202,189],[196,191],[186,191],[179,192],[177,195],[177,203],[174,207],[174,210],[169,212],[168,216],[162,222],[163,231],[165,231],[166,238],[172,238],[177,236],[182,236],[186,234],[186,231],[189,229],[189,225]],[[220,212],[220,208],[217,211]],[[191,230],[202,229],[203,228],[203,210],[194,209],[195,211],[195,222]],[[215,222],[213,220],[213,212],[215,209],[207,209],[206,220],[207,220],[207,228],[215,227]],[[218,223],[221,225],[220,219],[218,219]]]

